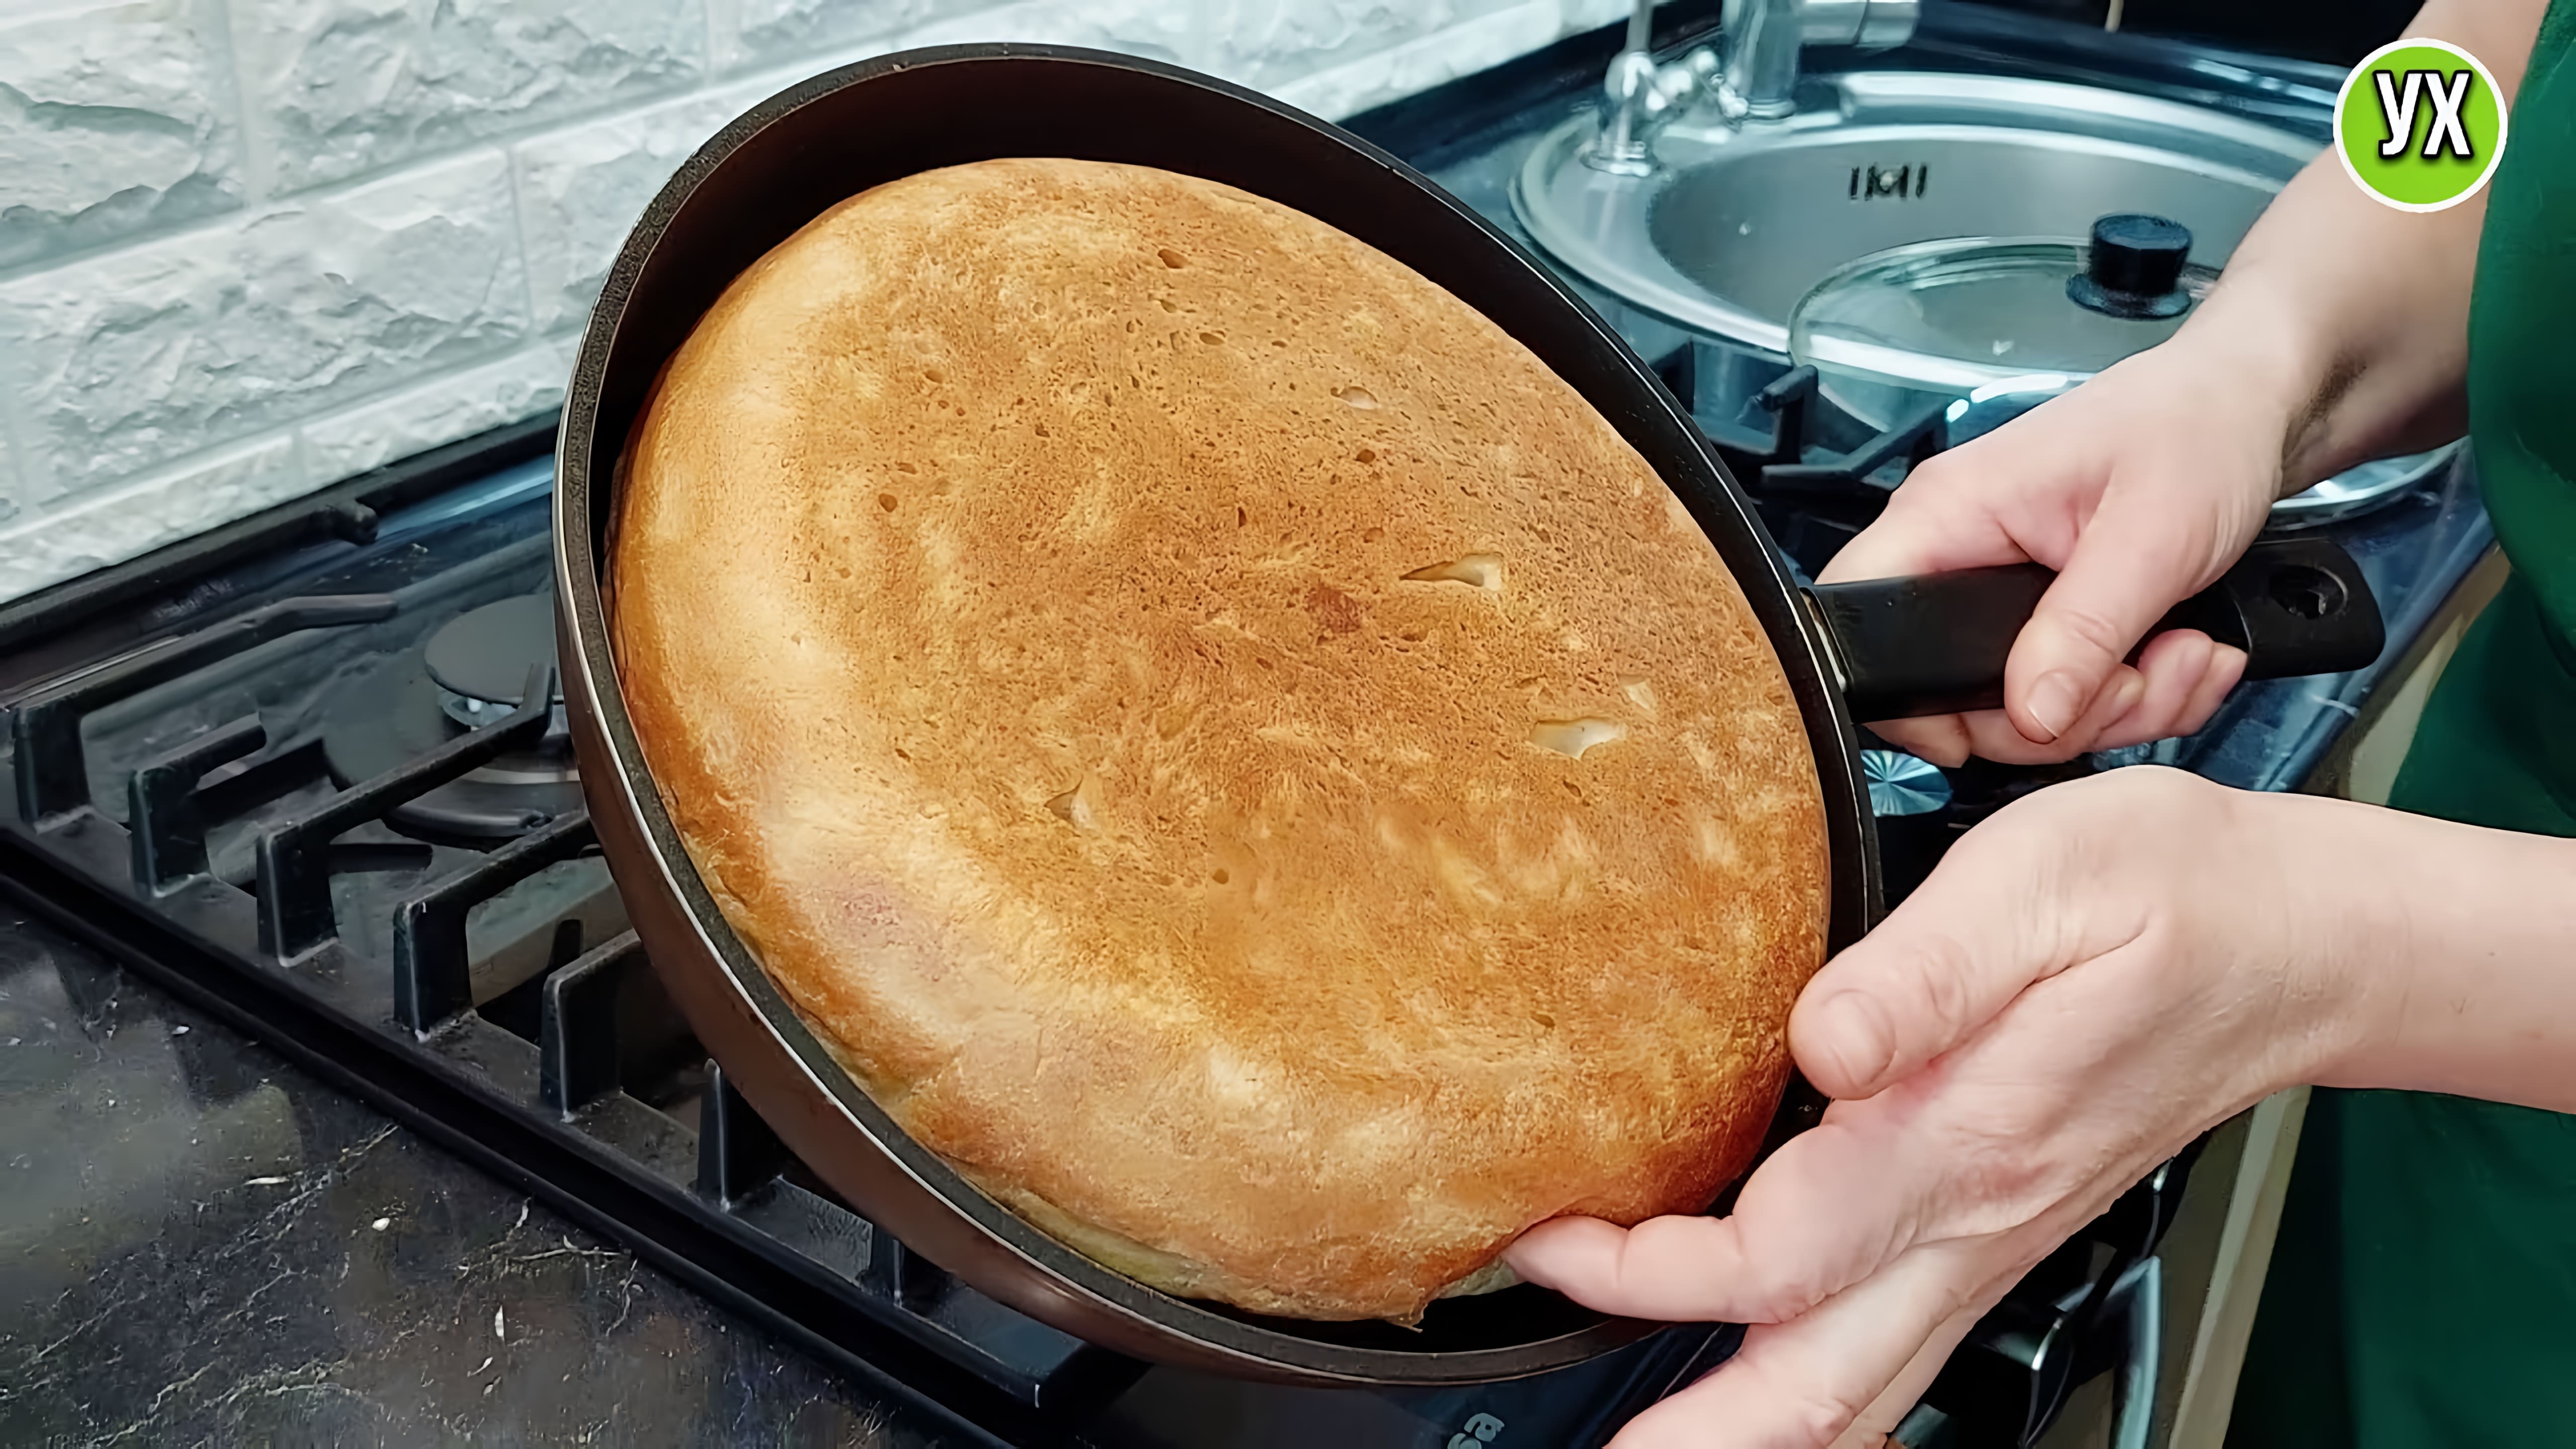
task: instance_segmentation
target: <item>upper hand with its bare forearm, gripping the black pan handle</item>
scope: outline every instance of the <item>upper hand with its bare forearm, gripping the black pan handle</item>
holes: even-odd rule
[[[2548,0],[2432,0],[2406,28],[2488,62],[2512,98]],[[2213,583],[2282,495],[2468,423],[2468,291],[2486,199],[2391,211],[2318,155],[2164,345],[1914,469],[1826,583],[2017,565],[2058,570],[2004,670],[2004,709],[1880,727],[1955,766],[2187,735],[2241,676],[2236,650],[2174,632],[2123,657]]]

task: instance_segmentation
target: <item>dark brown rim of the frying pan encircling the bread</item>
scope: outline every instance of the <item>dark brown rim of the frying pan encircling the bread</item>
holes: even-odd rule
[[[626,242],[621,245],[618,258],[611,266],[611,273],[600,289],[600,299],[592,307],[590,320],[585,322],[582,330],[574,376],[567,392],[564,418],[556,433],[554,572],[556,572],[559,598],[564,601],[564,608],[559,614],[559,629],[564,634],[562,655],[567,673],[564,699],[572,714],[577,717],[577,727],[582,727],[585,745],[595,745],[592,753],[600,755],[603,766],[608,766],[603,771],[582,771],[585,792],[592,794],[595,817],[634,822],[636,846],[641,848],[641,859],[634,861],[634,866],[641,866],[641,871],[636,869],[626,871],[626,874],[639,874],[641,879],[629,884],[626,877],[621,877],[621,890],[644,890],[659,897],[659,902],[667,902],[677,913],[677,918],[685,920],[690,933],[688,946],[698,954],[703,964],[714,967],[724,987],[732,990],[734,998],[744,1008],[750,1008],[750,1016],[757,1021],[762,1036],[757,1047],[765,1049],[778,1067],[793,1075],[801,1091],[806,1091],[814,1101],[827,1104],[832,1109],[835,1132],[840,1134],[855,1132],[858,1142],[873,1147],[876,1155],[884,1158],[884,1165],[891,1165],[896,1173],[902,1173],[902,1178],[909,1183],[912,1191],[927,1194],[927,1199],[943,1204],[958,1220],[971,1225],[971,1230],[981,1238],[984,1250],[1005,1253],[1007,1258],[1015,1261],[1018,1271],[1036,1274],[1043,1281],[1043,1287],[1051,1289],[1048,1294],[1038,1294],[1046,1302],[1028,1302],[1028,1294],[994,1294],[1002,1297],[1005,1302],[1012,1302],[1012,1307],[1030,1312],[1033,1318],[1064,1325],[1061,1315],[1048,1312],[1048,1307],[1064,1307],[1074,1318],[1082,1318],[1092,1328],[1100,1328],[1100,1320],[1105,1315],[1108,1320],[1118,1320],[1121,1325],[1133,1328],[1136,1336],[1123,1336],[1123,1338],[1133,1343],[1141,1336],[1146,1341],[1146,1348],[1141,1351],[1149,1356],[1167,1356],[1157,1354],[1157,1348],[1151,1346],[1154,1341],[1162,1341],[1167,1336],[1182,1336],[1188,1343],[1167,1343],[1167,1348],[1185,1348],[1185,1354],[1180,1354],[1175,1361],[1193,1361],[1198,1366],[1221,1366],[1226,1372],[1247,1377],[1288,1377],[1296,1382],[1332,1382],[1332,1385],[1497,1382],[1548,1369],[1564,1369],[1659,1330],[1662,1325],[1656,1323],[1592,1315],[1589,1323],[1571,1328],[1566,1333],[1528,1338],[1504,1346],[1486,1346],[1486,1348],[1409,1351],[1409,1348],[1352,1346],[1329,1338],[1301,1336],[1293,1328],[1267,1325],[1267,1323],[1293,1325],[1296,1320],[1247,1323],[1244,1318],[1234,1318],[1229,1312],[1198,1305],[1193,1299],[1164,1294],[1159,1289],[1151,1289],[1136,1279],[1115,1274],[1113,1269],[1105,1269],[1079,1256],[1077,1250],[1054,1240],[1051,1235],[1046,1235],[1020,1214],[1010,1212],[992,1196],[981,1194],[956,1168],[951,1168],[935,1152],[930,1152],[907,1132],[902,1132],[902,1127],[896,1127],[894,1119],[886,1116],[886,1111],[876,1106],[876,1101],[871,1101],[858,1088],[858,1083],[850,1080],[848,1073],[837,1067],[837,1062],[832,1062],[824,1047],[814,1039],[811,1029],[806,1029],[806,1024],[796,1016],[796,1011],[786,1003],[778,987],[760,969],[750,949],[724,920],[721,910],[714,905],[714,895],[706,890],[706,882],[696,869],[696,861],[690,861],[685,846],[680,843],[675,828],[670,825],[659,792],[654,789],[652,776],[641,763],[641,750],[634,737],[634,724],[626,714],[623,694],[616,683],[616,663],[608,650],[605,606],[600,593],[603,583],[600,565],[605,559],[605,549],[600,547],[600,529],[605,505],[613,498],[616,480],[613,474],[603,474],[603,469],[595,467],[600,462],[598,428],[603,410],[603,384],[611,371],[611,358],[616,353],[618,330],[626,322],[629,304],[634,302],[639,281],[644,278],[647,266],[654,260],[657,248],[662,248],[675,222],[680,222],[680,217],[688,211],[701,186],[711,180],[732,157],[742,155],[742,150],[752,144],[762,131],[786,121],[788,116],[811,103],[819,103],[829,95],[837,95],[848,88],[878,77],[899,72],[922,72],[930,67],[948,67],[948,64],[992,64],[992,62],[1110,67],[1131,75],[1141,72],[1162,85],[1211,90],[1226,101],[1255,106],[1265,111],[1273,121],[1288,121],[1293,126],[1301,126],[1314,134],[1314,142],[1345,147],[1355,152],[1358,160],[1381,165],[1396,173],[1401,180],[1409,180],[1412,188],[1419,191],[1430,204],[1448,209],[1453,219],[1466,222],[1468,227],[1484,232],[1489,245],[1499,248],[1502,253],[1517,258],[1525,268],[1530,268],[1533,281],[1553,291],[1553,297],[1561,304],[1571,304],[1571,309],[1597,335],[1597,340],[1605,340],[1625,358],[1628,369],[1638,374],[1636,382],[1641,382],[1643,389],[1649,389],[1646,397],[1656,400],[1664,410],[1664,418],[1638,418],[1636,423],[1649,428],[1654,423],[1664,423],[1667,431],[1674,425],[1685,428],[1687,446],[1698,449],[1700,454],[1698,462],[1705,467],[1708,477],[1716,482],[1721,492],[1718,503],[1731,505],[1728,511],[1744,526],[1749,526],[1754,536],[1759,536],[1767,544],[1767,534],[1759,531],[1759,521],[1752,516],[1749,503],[1734,487],[1734,480],[1723,472],[1716,456],[1708,454],[1705,441],[1698,438],[1698,431],[1687,423],[1687,418],[1680,418],[1677,405],[1662,392],[1662,387],[1651,379],[1651,374],[1643,371],[1643,364],[1636,361],[1636,356],[1625,348],[1625,343],[1620,343],[1618,335],[1610,333],[1610,327],[1597,315],[1592,315],[1589,307],[1584,307],[1582,299],[1574,297],[1553,273],[1548,273],[1540,263],[1535,263],[1520,248],[1515,248],[1484,217],[1476,217],[1473,211],[1461,206],[1455,199],[1450,199],[1445,191],[1440,191],[1427,178],[1414,173],[1399,157],[1358,137],[1350,137],[1337,126],[1306,116],[1291,106],[1280,106],[1260,93],[1206,75],[1195,75],[1180,67],[1170,67],[1162,62],[1149,62],[1110,52],[1092,52],[1074,46],[1038,46],[1038,44],[963,44],[963,46],[896,52],[855,62],[801,80],[760,101],[757,106],[737,116],[732,124],[726,124],[721,131],[716,131],[716,137],[708,139],[644,209],[641,219],[634,224]],[[665,358],[654,361],[659,364]],[[1556,364],[1551,364],[1551,369],[1553,366]],[[1595,405],[1600,402],[1595,400]],[[1636,428],[1623,425],[1620,418],[1610,420],[1613,425],[1620,428],[1623,436],[1631,438],[1631,443],[1636,443]],[[626,425],[631,425],[631,420]],[[618,438],[616,443],[623,446],[623,438]],[[1656,456],[1649,449],[1641,451],[1646,451],[1649,459]],[[1685,492],[1682,485],[1674,477],[1669,477],[1664,467],[1659,467],[1659,474],[1664,477],[1667,487],[1674,487],[1674,492],[1692,505],[1692,513],[1700,513],[1700,503],[1708,503],[1708,500],[1692,500],[1690,492]],[[1777,549],[1770,549],[1767,565],[1772,578],[1752,583],[1772,585],[1775,590],[1780,590],[1780,598],[1795,606],[1793,583],[1788,580],[1788,572],[1777,559]],[[1728,570],[1739,575],[1739,588],[1744,588],[1747,598],[1759,596],[1757,588],[1747,588],[1749,580],[1741,578],[1744,570],[1739,559],[1728,559]],[[1757,616],[1765,616],[1759,601],[1754,611]],[[1842,706],[1839,691],[1832,688],[1829,663],[1826,655],[1821,652],[1824,645],[1814,629],[1816,627],[1803,608],[1790,608],[1790,624],[1785,629],[1790,639],[1783,639],[1780,621],[1765,616],[1765,632],[1770,634],[1775,652],[1783,655],[1783,668],[1790,673],[1793,691],[1798,691],[1801,696],[1798,699],[1801,714],[1806,717],[1811,743],[1816,743],[1819,735],[1832,737],[1839,745],[1837,750],[1839,761],[1847,768],[1852,768],[1857,766],[1857,732],[1852,730],[1847,709]],[[1798,647],[1795,660],[1790,657],[1790,645]],[[1824,681],[1821,694],[1814,688],[1798,688],[1801,665],[1808,681]],[[1821,722],[1816,719],[1819,704],[1824,706],[1826,714],[1826,719]],[[1816,748],[1819,784],[1826,792],[1829,830],[1839,825],[1839,812],[1834,810],[1837,799],[1832,786],[1832,773],[1834,773],[1832,763],[1837,755],[1826,755],[1821,745]],[[1857,779],[1852,781],[1852,786],[1857,789]],[[1860,817],[1862,838],[1857,841],[1862,846],[1860,866],[1865,877],[1875,877],[1875,871],[1868,869],[1873,864],[1870,861],[1873,853],[1865,848],[1870,835],[1868,825],[1870,825],[1868,815],[1862,812]],[[603,830],[603,841],[605,835],[608,833]],[[1829,900],[1834,902],[1834,920],[1837,928],[1842,928],[1842,933],[1850,933],[1844,923],[1844,915],[1852,915],[1850,910],[1844,910],[1844,897],[1850,895],[1850,890],[1842,882],[1844,871],[1850,869],[1850,859],[1844,851],[1844,841],[1839,835],[1834,841],[1834,851],[1829,853],[1829,859],[1837,882],[1829,890]],[[1860,923],[1865,923],[1870,915],[1875,915],[1875,890],[1870,890],[1875,882],[1862,879],[1857,884],[1862,887],[1857,918]],[[1839,944],[1844,941],[1829,941],[1829,946]],[[696,1018],[690,1024],[701,1031],[701,1036],[706,1036],[703,1024],[698,1024]],[[708,1049],[714,1055],[714,1044]],[[721,1057],[719,1065],[724,1065]],[[747,1073],[742,1080],[744,1091],[750,1093],[750,1085],[755,1080],[768,1080],[768,1075]],[[762,1109],[765,1116],[773,1116],[773,1104],[765,1104],[757,1096],[752,1104]],[[775,1116],[773,1127],[781,1127]],[[781,1132],[786,1134],[786,1129]],[[824,1173],[824,1178],[832,1181],[829,1173]],[[971,1287],[992,1292],[992,1287],[987,1287],[974,1271],[961,1271],[958,1276],[966,1279]],[[1054,1299],[1066,1299],[1066,1302],[1059,1305]],[[1084,1333],[1079,1328],[1069,1330]]]

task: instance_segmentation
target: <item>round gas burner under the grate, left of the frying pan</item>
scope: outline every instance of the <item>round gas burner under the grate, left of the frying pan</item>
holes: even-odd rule
[[[554,663],[554,596],[531,593],[461,614],[417,655],[355,676],[332,696],[322,758],[343,786],[386,773],[456,735],[500,719]],[[453,784],[397,804],[386,822],[422,841],[489,846],[582,807],[564,696],[533,750],[507,753]]]

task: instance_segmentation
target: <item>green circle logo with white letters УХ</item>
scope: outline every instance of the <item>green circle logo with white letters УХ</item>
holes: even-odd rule
[[[2458,206],[2504,157],[2504,103],[2478,57],[2403,39],[2370,52],[2334,98],[2334,155],[2398,211]]]

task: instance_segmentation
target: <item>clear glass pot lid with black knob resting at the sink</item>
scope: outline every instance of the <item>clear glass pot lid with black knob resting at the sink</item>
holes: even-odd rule
[[[1870,253],[1790,312],[1790,361],[1852,384],[1968,394],[2053,374],[2074,387],[2182,327],[2218,271],[2159,217],[2102,217],[2092,240],[1950,237]]]

